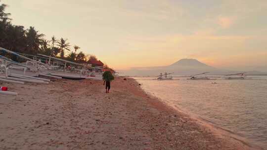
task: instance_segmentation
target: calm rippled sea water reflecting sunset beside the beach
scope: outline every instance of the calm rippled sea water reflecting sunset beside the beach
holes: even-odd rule
[[[178,109],[188,111],[267,149],[267,76],[243,80],[155,80],[134,77],[142,88]],[[216,82],[216,83],[213,83]]]

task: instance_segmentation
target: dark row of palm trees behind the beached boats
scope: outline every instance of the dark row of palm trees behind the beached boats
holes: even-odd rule
[[[0,1],[0,47],[30,55],[41,53],[78,63],[97,59],[94,55],[86,55],[80,51],[78,45],[71,46],[67,38],[57,39],[53,36],[45,39],[45,34],[40,33],[35,27],[25,29],[23,26],[13,25],[11,14],[5,12],[6,7],[7,5]]]

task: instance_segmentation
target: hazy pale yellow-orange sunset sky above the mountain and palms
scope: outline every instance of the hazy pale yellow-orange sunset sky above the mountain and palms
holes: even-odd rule
[[[1,0],[12,23],[68,38],[115,70],[193,58],[267,71],[267,0]]]

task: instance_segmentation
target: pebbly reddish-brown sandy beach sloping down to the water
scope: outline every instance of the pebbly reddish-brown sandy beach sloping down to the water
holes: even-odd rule
[[[253,150],[209,123],[147,95],[138,83],[56,79],[3,83],[0,150]]]

